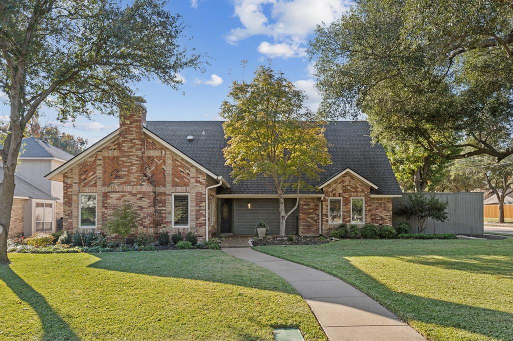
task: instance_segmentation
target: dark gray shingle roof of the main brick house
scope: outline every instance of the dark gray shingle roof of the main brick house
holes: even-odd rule
[[[233,183],[230,177],[231,167],[225,165],[223,156],[226,139],[222,121],[148,121],[147,124],[148,130],[209,171],[223,176],[231,184],[231,188],[223,190],[223,193],[274,193],[264,178]],[[192,142],[187,141],[188,135],[194,137]],[[323,167],[325,172],[321,173],[320,180],[312,182],[312,185],[320,185],[344,169],[351,168],[379,187],[372,189],[371,194],[402,193],[383,147],[380,144],[372,145],[368,122],[332,121],[326,125],[325,136],[329,143],[332,164]]]

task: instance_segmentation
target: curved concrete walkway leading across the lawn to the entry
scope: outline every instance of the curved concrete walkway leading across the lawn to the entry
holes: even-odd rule
[[[378,302],[325,272],[250,248],[223,251],[282,276],[303,296],[331,341],[425,340]]]

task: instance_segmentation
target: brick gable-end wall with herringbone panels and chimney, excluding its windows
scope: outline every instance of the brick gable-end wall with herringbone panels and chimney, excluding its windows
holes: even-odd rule
[[[145,134],[145,124],[146,109],[142,105],[132,113],[122,113],[119,135],[64,172],[66,230],[78,230],[79,194],[94,193],[96,231],[102,230],[117,207],[130,202],[139,214],[135,233],[190,230],[200,240],[205,238],[205,190],[212,183],[207,183],[201,169]],[[189,194],[189,227],[172,227],[173,193]],[[209,232],[213,235],[216,229]]]

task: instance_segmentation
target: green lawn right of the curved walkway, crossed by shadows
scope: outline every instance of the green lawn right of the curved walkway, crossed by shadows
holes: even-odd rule
[[[429,339],[513,339],[512,238],[341,240],[255,249],[337,276]]]

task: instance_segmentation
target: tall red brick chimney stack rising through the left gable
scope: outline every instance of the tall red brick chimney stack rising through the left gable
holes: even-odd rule
[[[131,102],[120,106],[119,176],[125,185],[142,185],[144,181],[145,102],[142,97],[137,96]]]

